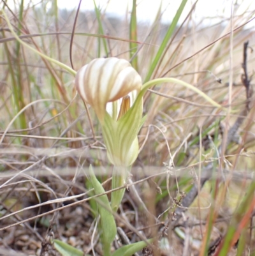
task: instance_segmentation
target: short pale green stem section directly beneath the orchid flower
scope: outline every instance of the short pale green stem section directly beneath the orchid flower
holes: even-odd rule
[[[120,167],[114,166],[112,173],[112,189],[119,188],[126,184],[126,179],[131,170],[131,167]],[[121,188],[120,190],[116,190],[111,194],[111,206],[113,212],[116,212],[119,209],[122,198],[124,196],[126,188]]]

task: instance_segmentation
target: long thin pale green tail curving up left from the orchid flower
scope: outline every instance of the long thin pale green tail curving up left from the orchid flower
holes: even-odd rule
[[[66,70],[67,72],[71,73],[72,75],[76,75],[76,71],[73,70],[72,68],[70,68],[69,66],[61,63],[60,61],[56,61],[55,59],[52,59],[51,57],[48,57],[47,55],[41,53],[39,50],[34,49],[33,47],[31,47],[30,45],[28,45],[27,43],[25,43],[24,41],[22,41],[18,35],[15,33],[15,31],[13,30],[13,27],[11,26],[11,22],[8,19],[6,13],[4,12],[4,10],[2,10],[2,14],[4,16],[4,19],[6,20],[6,23],[11,31],[11,34],[13,34],[13,36],[16,38],[16,40],[21,43],[22,45],[24,45],[25,47],[27,47],[29,50],[32,50],[33,52],[35,52],[36,54],[40,55],[41,57],[43,57],[44,59],[47,59],[47,61],[50,61],[52,63],[57,64],[58,66],[60,66],[61,68],[63,68],[64,70]]]

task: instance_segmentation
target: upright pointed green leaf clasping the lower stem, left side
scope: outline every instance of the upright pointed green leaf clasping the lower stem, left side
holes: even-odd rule
[[[99,195],[101,193],[105,193],[105,190],[96,178],[91,165],[89,166],[89,177],[91,179],[95,194]],[[110,202],[108,201],[107,195],[101,195],[95,200],[98,204],[101,229],[103,232],[103,244],[108,246],[110,243],[112,243],[117,234],[116,223],[111,213],[112,208],[110,206]]]

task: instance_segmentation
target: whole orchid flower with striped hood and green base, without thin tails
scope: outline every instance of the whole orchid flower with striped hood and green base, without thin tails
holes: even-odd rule
[[[138,155],[138,132],[142,126],[142,79],[125,59],[94,59],[78,70],[78,93],[96,112],[110,162],[128,167]]]

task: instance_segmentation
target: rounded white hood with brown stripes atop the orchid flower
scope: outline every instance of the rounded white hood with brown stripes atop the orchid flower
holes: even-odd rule
[[[78,70],[75,77],[78,93],[95,110],[99,121],[105,117],[106,104],[140,91],[142,79],[125,59],[94,59]]]

